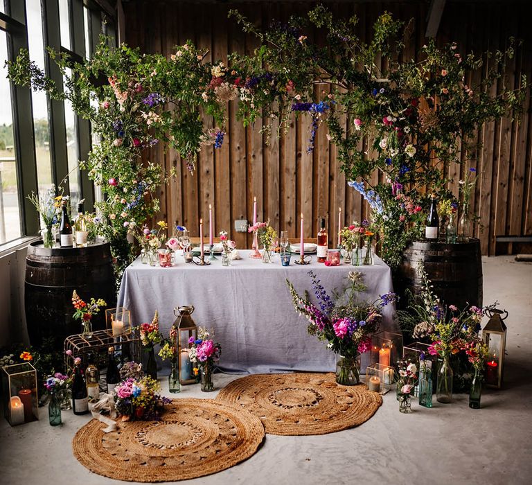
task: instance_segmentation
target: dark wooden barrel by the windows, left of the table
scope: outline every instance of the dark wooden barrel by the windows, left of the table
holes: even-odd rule
[[[87,247],[47,249],[42,241],[28,246],[24,307],[28,335],[33,346],[52,337],[57,350],[68,335],[81,333],[72,315],[72,292],[89,302],[102,298],[108,308],[116,306],[114,273],[109,243]],[[93,318],[93,329],[105,328],[105,308]]]

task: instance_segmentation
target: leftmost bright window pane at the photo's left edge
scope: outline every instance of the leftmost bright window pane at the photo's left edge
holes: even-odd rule
[[[8,33],[0,30],[0,65],[8,60]],[[19,184],[12,96],[9,81],[0,76],[0,244],[21,236]]]

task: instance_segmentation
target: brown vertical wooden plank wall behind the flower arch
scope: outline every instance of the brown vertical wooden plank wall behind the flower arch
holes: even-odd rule
[[[326,2],[336,15],[360,18],[357,34],[363,39],[371,35],[373,21],[384,10],[408,21],[414,19],[404,57],[419,58],[420,47],[426,42],[427,1]],[[447,1],[438,42],[455,41],[462,55],[490,49],[502,49],[511,35],[524,39],[514,60],[508,65],[506,81],[517,86],[522,73],[532,78],[532,35],[527,25],[526,2],[508,5],[508,1],[452,2]],[[242,33],[236,22],[227,19],[230,8],[238,8],[256,24],[266,27],[272,20],[286,21],[292,14],[304,14],[312,2],[189,2],[132,1],[124,4],[126,39],[131,46],[146,52],[170,55],[175,45],[192,39],[209,49],[209,60],[227,62],[227,53],[251,53],[256,39]],[[319,39],[309,32],[309,38]],[[470,85],[479,76],[466,80]],[[503,80],[493,87],[502,89]],[[323,89],[317,87],[317,89]],[[473,228],[481,239],[483,254],[495,254],[495,236],[532,234],[532,123],[531,96],[526,96],[525,112],[518,121],[504,119],[486,123],[473,137],[479,150],[466,162],[462,171],[456,164],[447,167],[454,180],[450,188],[458,193],[458,180],[470,166],[480,173],[472,201],[472,213],[480,215],[480,224]],[[213,204],[216,231],[230,231],[239,247],[251,245],[245,233],[236,233],[233,221],[253,216],[253,200],[257,197],[258,219],[269,219],[278,230],[299,236],[299,214],[305,218],[305,238],[317,233],[318,219],[327,218],[330,242],[337,240],[338,208],[342,207],[344,224],[362,220],[369,211],[360,195],[346,185],[339,171],[336,151],[321,127],[316,148],[306,151],[309,139],[308,117],[294,120],[281,139],[269,140],[260,133],[260,121],[254,127],[242,127],[236,120],[236,102],[229,105],[228,133],[219,150],[202,150],[197,173],[190,175],[174,150],[163,153],[150,151],[151,159],[159,159],[169,169],[177,168],[177,179],[161,187],[161,218],[184,224],[197,236],[199,217],[207,218]],[[275,128],[275,125],[274,125]],[[269,141],[269,144],[267,143]],[[465,154],[463,153],[465,158]]]

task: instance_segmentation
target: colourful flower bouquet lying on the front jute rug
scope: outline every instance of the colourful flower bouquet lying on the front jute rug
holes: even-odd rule
[[[150,376],[127,378],[114,390],[114,406],[123,421],[158,421],[164,405],[172,402],[159,394],[161,387]]]

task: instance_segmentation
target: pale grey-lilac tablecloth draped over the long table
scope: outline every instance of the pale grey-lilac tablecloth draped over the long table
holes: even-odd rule
[[[218,256],[210,266],[186,264],[177,255],[173,267],[150,267],[139,259],[123,276],[118,305],[129,308],[135,325],[152,320],[159,310],[161,331],[175,320],[175,306],[193,305],[193,319],[198,326],[213,328],[215,340],[222,345],[219,367],[226,371],[269,373],[276,371],[333,371],[336,357],[323,342],[307,333],[307,320],[292,306],[285,279],[303,293],[312,287],[308,270],[313,270],[332,296],[334,290],[348,285],[351,270],[364,274],[368,288],[364,299],[375,299],[392,290],[389,267],[375,257],[375,265],[326,267],[316,262],[298,266],[264,264],[240,250],[242,260],[223,267]],[[395,308],[384,308],[382,329],[397,330],[393,321]],[[364,362],[364,361],[363,361]]]

